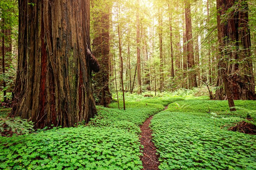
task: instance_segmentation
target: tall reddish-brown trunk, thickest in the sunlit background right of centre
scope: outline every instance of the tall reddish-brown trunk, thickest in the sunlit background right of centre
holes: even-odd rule
[[[195,60],[194,60],[193,39],[192,39],[190,2],[188,0],[185,1],[185,19],[186,19],[188,69],[193,69],[193,67],[195,66]],[[197,87],[195,71],[190,71],[190,72],[191,73],[189,73],[190,75],[188,76],[189,88]]]

